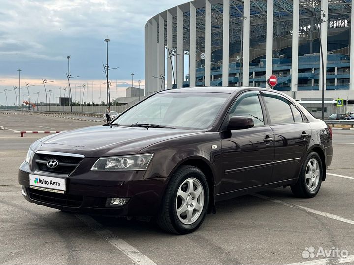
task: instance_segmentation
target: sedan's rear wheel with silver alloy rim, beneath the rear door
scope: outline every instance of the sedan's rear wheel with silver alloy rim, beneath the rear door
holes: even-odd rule
[[[312,198],[320,190],[323,179],[322,160],[316,152],[311,152],[304,160],[299,178],[290,186],[293,194],[300,198]]]

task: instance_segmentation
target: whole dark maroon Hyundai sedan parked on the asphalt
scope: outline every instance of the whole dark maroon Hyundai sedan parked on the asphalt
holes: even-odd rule
[[[281,92],[183,88],[158,92],[109,124],[34,142],[19,183],[29,202],[155,216],[183,234],[220,200],[280,186],[314,197],[332,154],[331,129]]]

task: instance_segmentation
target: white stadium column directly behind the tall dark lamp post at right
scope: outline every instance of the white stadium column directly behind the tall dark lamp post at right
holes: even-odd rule
[[[327,82],[327,39],[328,39],[328,0],[321,1],[321,9],[326,14],[325,21],[321,23],[321,43],[322,43],[322,52],[324,58],[324,67],[322,69],[322,64],[320,62],[320,80],[319,80],[319,89],[322,90],[322,73],[324,73],[324,90],[326,90]],[[321,54],[321,51],[320,51]],[[320,55],[321,58],[321,55]]]

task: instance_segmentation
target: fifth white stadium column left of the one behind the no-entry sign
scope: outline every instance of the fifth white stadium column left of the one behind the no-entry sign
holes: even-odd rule
[[[177,6],[177,88],[183,87],[183,11]]]

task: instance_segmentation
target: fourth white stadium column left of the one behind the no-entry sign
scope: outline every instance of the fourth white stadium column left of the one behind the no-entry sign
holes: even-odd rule
[[[196,80],[196,8],[190,3],[189,25],[189,86],[194,87]]]

